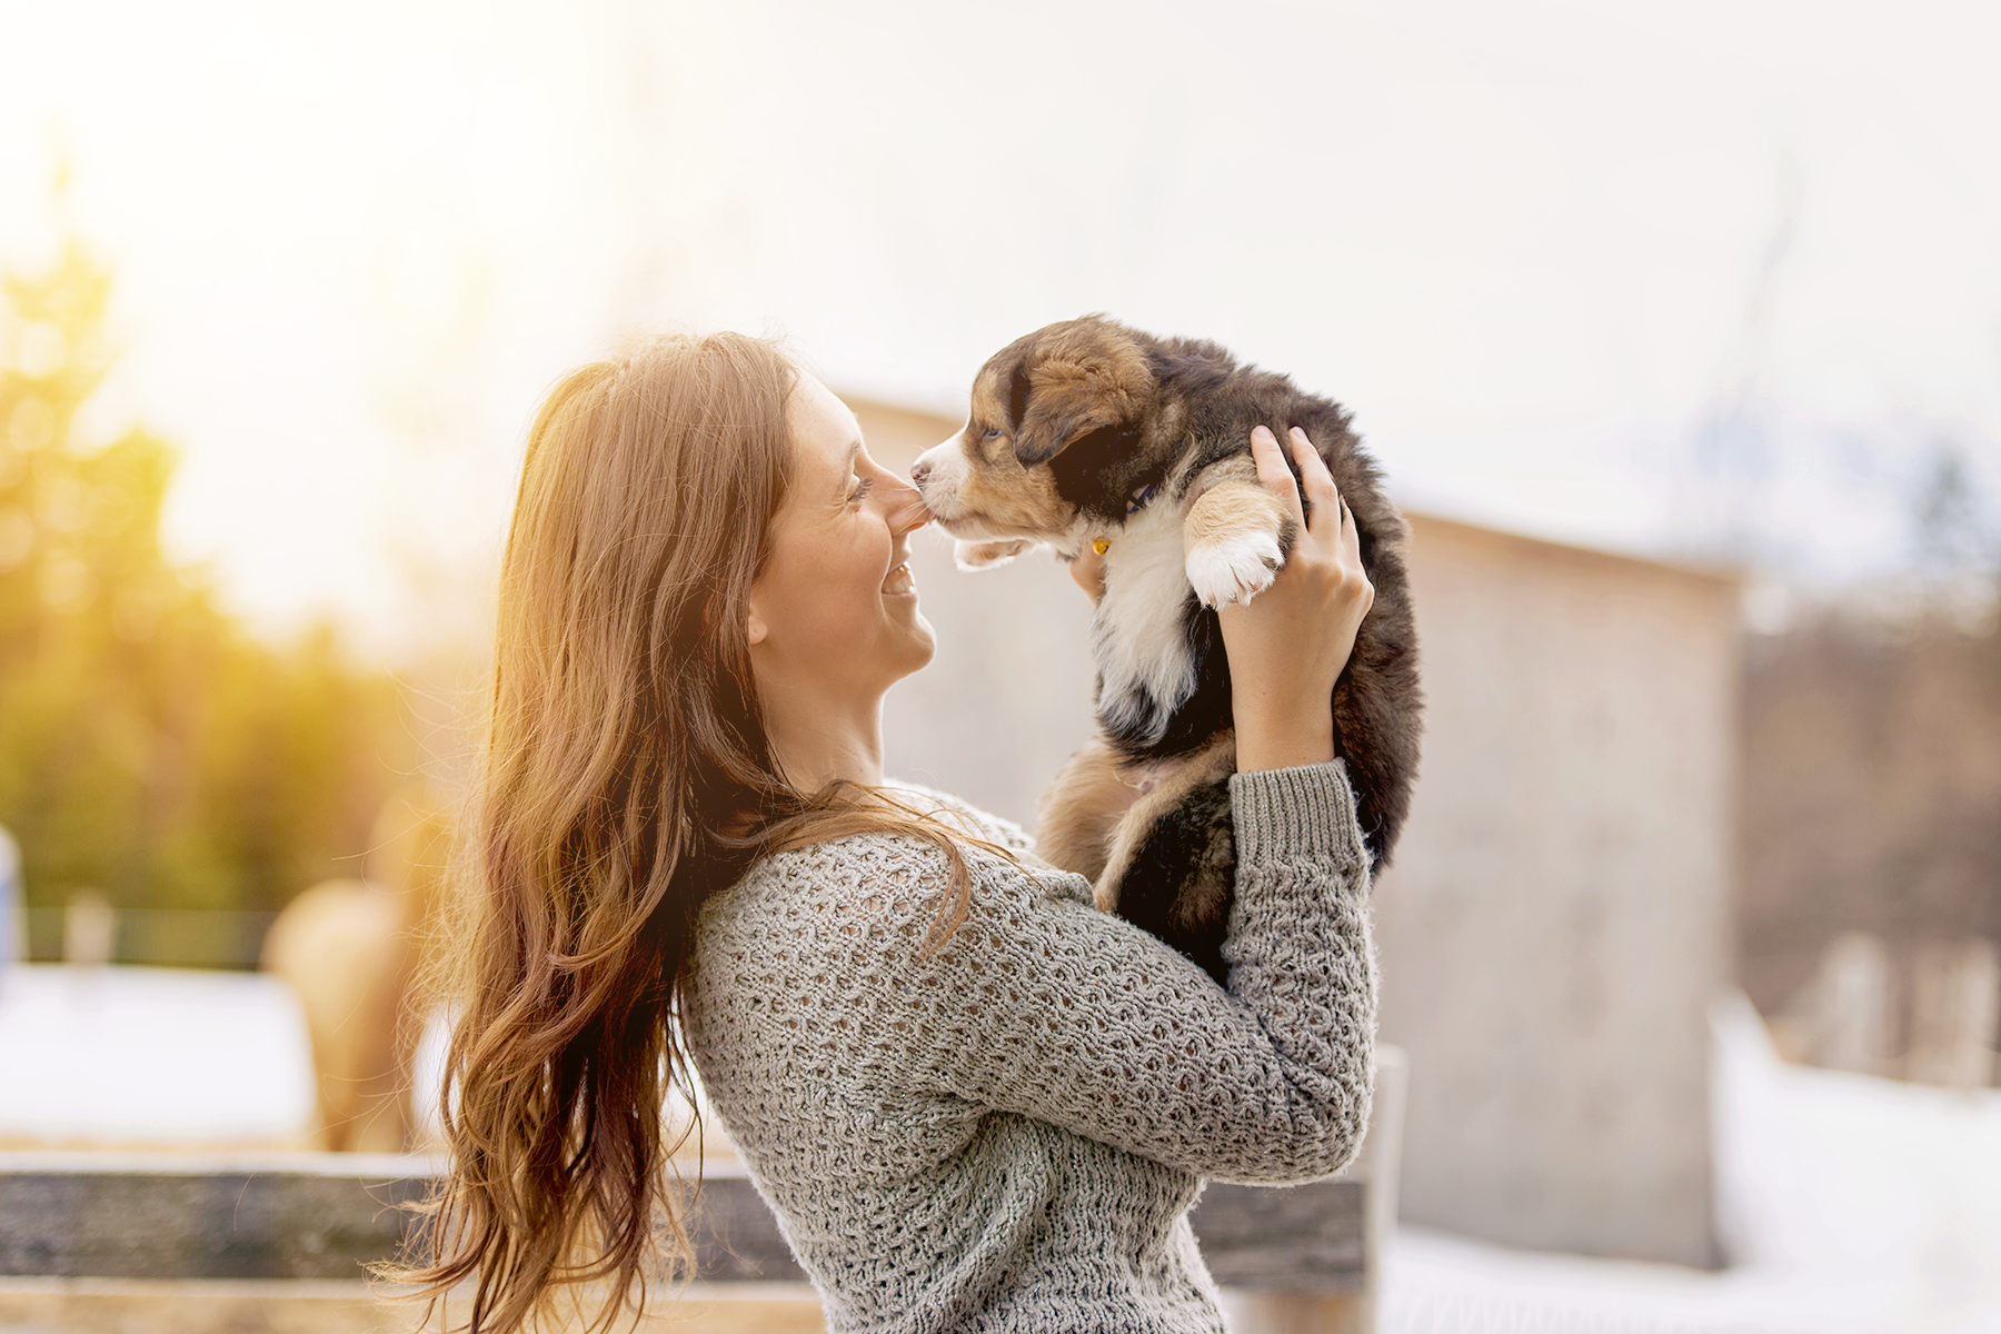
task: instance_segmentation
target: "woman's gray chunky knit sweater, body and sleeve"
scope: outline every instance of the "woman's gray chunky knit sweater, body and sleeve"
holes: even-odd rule
[[[966,850],[972,910],[930,958],[946,866],[900,836],[768,858],[696,932],[688,1048],[828,1330],[1223,1330],[1189,1230],[1203,1178],[1325,1176],[1369,1118],[1341,764],[1231,780],[1227,988],[1017,826],[912,792],[1025,854]]]

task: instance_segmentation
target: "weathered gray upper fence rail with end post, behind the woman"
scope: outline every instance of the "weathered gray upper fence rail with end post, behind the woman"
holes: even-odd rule
[[[1379,1054],[1377,1112],[1347,1174],[1203,1192],[1191,1214],[1203,1258],[1219,1284],[1267,1294],[1261,1328],[1373,1326],[1403,1070],[1399,1052]],[[0,1152],[0,1278],[358,1280],[398,1254],[416,1224],[406,1204],[440,1170],[376,1154]],[[690,1234],[708,1284],[804,1280],[740,1168],[710,1164]]]

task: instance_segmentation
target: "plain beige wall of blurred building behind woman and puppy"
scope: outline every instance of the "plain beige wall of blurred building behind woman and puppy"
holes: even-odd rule
[[[958,426],[854,406],[886,466]],[[1383,1038],[1411,1054],[1403,1216],[1705,1264],[1737,590],[1413,526],[1425,766],[1377,888]],[[912,570],[938,658],[890,694],[890,772],[1027,822],[1091,726],[1089,604],[1047,556],[960,574],[920,534]]]

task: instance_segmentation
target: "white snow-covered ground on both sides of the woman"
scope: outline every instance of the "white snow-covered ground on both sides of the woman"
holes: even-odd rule
[[[1385,1334],[2001,1334],[2001,1092],[1785,1066],[1715,1010],[1717,1214],[1737,1266],[1549,1256],[1401,1228]],[[304,1022],[270,978],[0,972],[0,1144],[288,1142]]]

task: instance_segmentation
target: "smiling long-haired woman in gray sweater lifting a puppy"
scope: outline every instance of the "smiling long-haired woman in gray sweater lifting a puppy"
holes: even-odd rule
[[[1271,432],[1253,448],[1297,514]],[[884,786],[882,694],[932,654],[904,566],[928,516],[840,400],[734,334],[564,380],[502,566],[454,1174],[410,1276],[476,1280],[480,1330],[578,1282],[604,1320],[640,1300],[656,1210],[686,1252],[660,1106],[692,1058],[828,1328],[1221,1330],[1201,1178],[1333,1172],[1371,1090],[1327,704],[1371,590],[1293,452],[1313,524],[1223,612],[1225,990],[1019,828]]]

